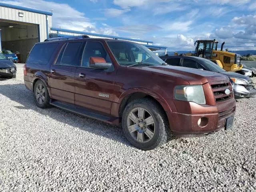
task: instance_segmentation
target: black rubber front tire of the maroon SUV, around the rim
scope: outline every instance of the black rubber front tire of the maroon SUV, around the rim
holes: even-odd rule
[[[138,134],[138,130],[134,131],[134,133],[130,133],[130,131],[128,130],[129,114],[132,112],[132,110],[136,108],[146,109],[147,112],[149,112],[149,114],[154,119],[154,135],[152,136],[151,140],[149,140],[148,142],[139,142],[138,138],[135,139],[136,134]],[[148,126],[146,125],[146,127]],[[148,98],[136,99],[127,104],[126,108],[124,109],[124,113],[122,115],[122,128],[123,128],[124,135],[126,136],[128,141],[132,145],[142,150],[152,150],[154,148],[161,146],[162,144],[166,143],[168,139],[168,135],[170,134],[168,120],[164,110],[162,110],[162,108],[154,100],[151,100]],[[137,128],[139,128],[139,126],[137,126]],[[135,134],[135,135],[132,136],[132,134]]]

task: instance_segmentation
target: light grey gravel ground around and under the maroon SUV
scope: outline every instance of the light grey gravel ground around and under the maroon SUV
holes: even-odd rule
[[[1,192],[256,191],[256,98],[238,100],[233,130],[146,152],[117,126],[37,108],[22,68],[0,101]]]

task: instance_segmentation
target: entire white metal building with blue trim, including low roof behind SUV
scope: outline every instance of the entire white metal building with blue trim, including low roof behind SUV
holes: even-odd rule
[[[94,34],[52,27],[52,13],[10,4],[0,3],[0,51],[20,52],[20,62],[25,62],[31,48],[37,42],[47,38],[70,35],[88,35],[91,38],[112,38],[136,42],[150,50],[167,50],[164,46],[155,46],[152,41],[145,41],[119,36]]]

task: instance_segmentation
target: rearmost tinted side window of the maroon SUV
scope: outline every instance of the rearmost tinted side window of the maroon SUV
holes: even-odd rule
[[[28,56],[27,63],[46,65],[57,46],[58,43],[36,44]]]

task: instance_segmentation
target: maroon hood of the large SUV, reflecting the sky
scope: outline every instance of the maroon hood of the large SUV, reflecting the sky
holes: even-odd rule
[[[140,69],[147,70],[152,73],[164,74],[177,79],[183,79],[187,81],[189,84],[205,84],[207,82],[229,80],[227,76],[219,73],[187,68],[187,67],[167,65],[167,66],[141,67]]]

